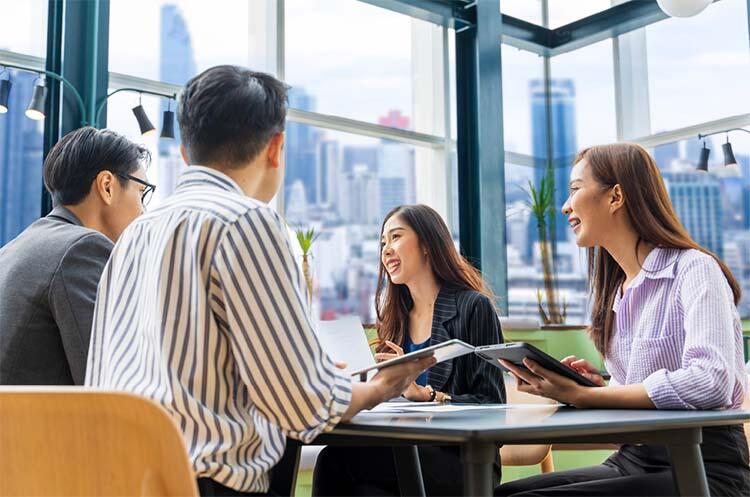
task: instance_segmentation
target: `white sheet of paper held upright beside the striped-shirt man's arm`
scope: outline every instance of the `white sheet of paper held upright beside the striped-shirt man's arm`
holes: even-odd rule
[[[318,339],[326,353],[337,362],[346,363],[350,373],[375,364],[367,345],[367,335],[357,316],[318,322]]]

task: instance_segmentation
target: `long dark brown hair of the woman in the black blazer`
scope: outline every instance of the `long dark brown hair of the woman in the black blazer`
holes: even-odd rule
[[[400,217],[417,234],[420,248],[427,251],[430,268],[440,286],[453,286],[464,290],[476,290],[495,302],[494,295],[482,275],[456,250],[448,226],[433,208],[426,205],[401,205],[392,209],[383,220],[380,236],[383,236],[385,223],[393,216]],[[379,255],[378,287],[375,291],[375,310],[378,321],[378,351],[386,351],[385,340],[402,344],[409,323],[412,301],[406,285],[395,285],[383,266],[382,245]]]

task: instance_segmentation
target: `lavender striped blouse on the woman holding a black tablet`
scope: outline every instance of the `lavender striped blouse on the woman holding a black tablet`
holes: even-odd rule
[[[657,409],[740,407],[747,388],[742,326],[713,258],[652,250],[613,309],[610,384],[643,383]]]

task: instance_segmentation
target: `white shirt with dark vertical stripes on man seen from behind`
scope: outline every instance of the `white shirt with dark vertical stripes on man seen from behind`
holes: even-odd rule
[[[332,429],[351,381],[321,349],[285,224],[191,166],[120,237],[99,284],[86,384],[160,403],[198,477],[266,492],[285,436]]]

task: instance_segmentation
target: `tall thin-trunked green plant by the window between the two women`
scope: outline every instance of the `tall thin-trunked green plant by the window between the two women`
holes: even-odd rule
[[[539,316],[545,325],[560,325],[565,322],[566,304],[558,303],[557,275],[554,267],[554,219],[555,219],[555,183],[551,170],[542,178],[539,187],[529,181],[529,209],[536,219],[539,252],[542,262],[544,294],[537,289]],[[547,310],[542,305],[543,296],[547,300]]]

